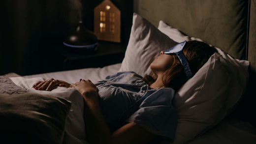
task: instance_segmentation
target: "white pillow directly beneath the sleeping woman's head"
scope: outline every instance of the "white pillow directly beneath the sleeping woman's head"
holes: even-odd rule
[[[173,144],[184,144],[220,122],[227,114],[225,105],[231,70],[218,53],[175,94],[178,123]]]

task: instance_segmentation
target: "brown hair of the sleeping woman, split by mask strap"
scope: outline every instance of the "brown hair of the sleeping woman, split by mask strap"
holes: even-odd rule
[[[204,42],[195,40],[188,41],[183,48],[183,53],[189,63],[192,75],[194,75],[215,52],[217,52],[215,48]],[[146,75],[144,80],[149,85],[155,82],[155,79],[149,75]],[[174,90],[178,90],[187,82],[183,66],[176,55],[174,55],[173,65],[164,72],[162,82],[165,87],[171,87]]]

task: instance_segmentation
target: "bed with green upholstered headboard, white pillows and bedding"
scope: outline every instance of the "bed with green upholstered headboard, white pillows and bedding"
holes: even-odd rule
[[[256,0],[134,0],[134,12],[122,63],[1,76],[1,93],[5,93],[0,97],[0,127],[5,131],[2,142],[22,142],[27,138],[31,143],[40,140],[42,144],[87,144],[79,93],[64,87],[38,92],[31,88],[35,82],[54,78],[75,83],[82,78],[96,83],[120,71],[152,74],[149,64],[162,49],[184,40],[198,40],[216,47],[218,53],[176,92],[178,126],[174,141],[155,143],[256,144]],[[31,98],[28,92],[36,97]],[[15,99],[26,109],[16,106]],[[26,104],[28,100],[31,105]],[[31,115],[6,110],[6,106],[25,109]],[[57,112],[61,113],[55,115]]]

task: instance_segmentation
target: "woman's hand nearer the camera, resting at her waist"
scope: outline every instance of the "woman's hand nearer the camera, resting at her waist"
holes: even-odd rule
[[[97,87],[90,80],[81,80],[75,84],[70,84],[70,87],[75,87],[83,95],[86,102],[98,102]]]

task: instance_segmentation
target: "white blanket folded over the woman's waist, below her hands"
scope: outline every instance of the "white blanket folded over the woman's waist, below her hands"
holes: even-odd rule
[[[60,87],[52,91],[35,90],[32,86],[43,78],[10,78],[16,85],[24,87],[28,92],[50,94],[65,98],[72,102],[71,110],[67,115],[64,128],[64,144],[88,144],[86,142],[85,123],[83,119],[84,102],[82,95],[75,88]]]

